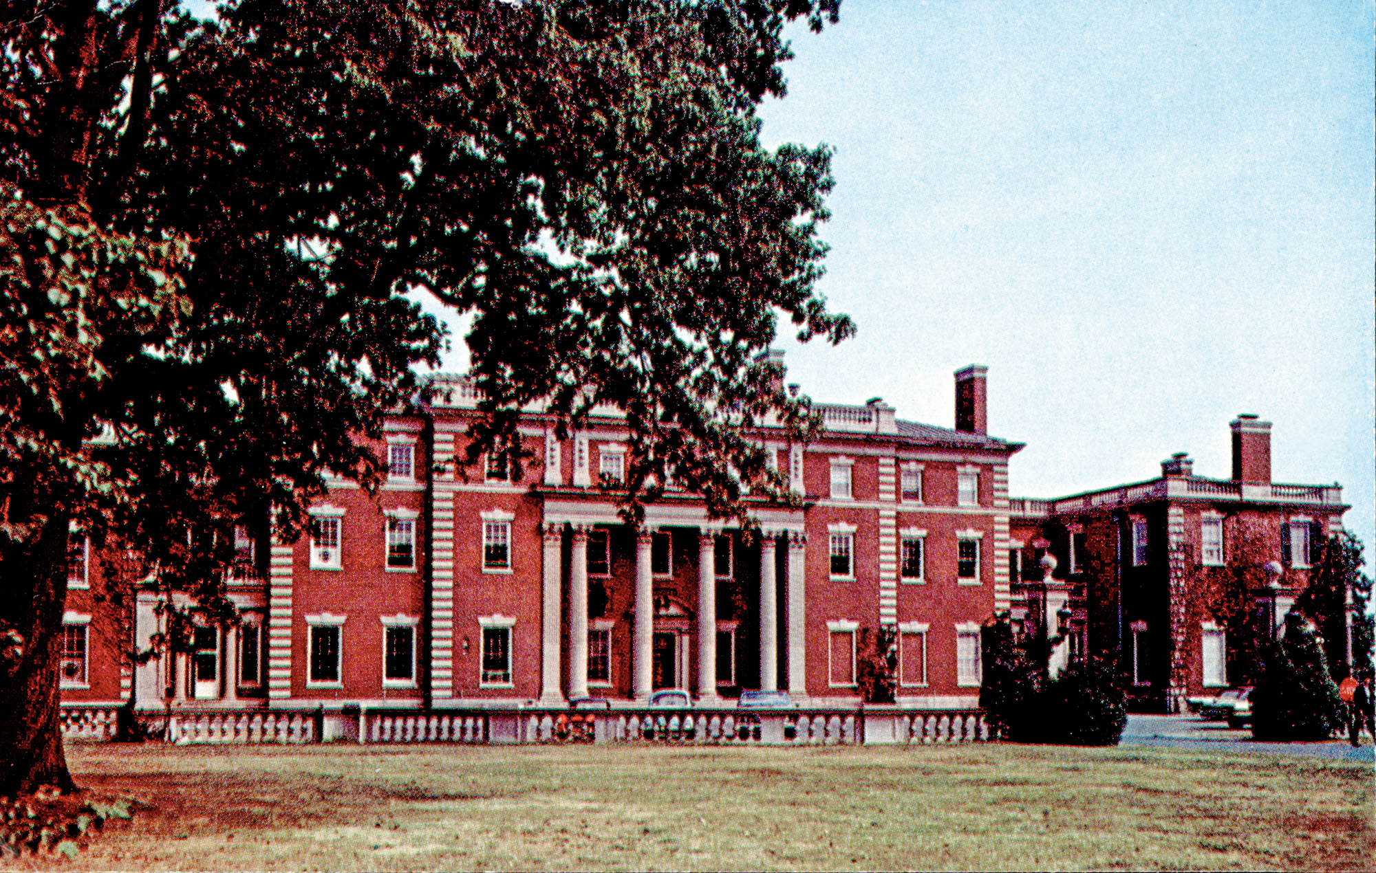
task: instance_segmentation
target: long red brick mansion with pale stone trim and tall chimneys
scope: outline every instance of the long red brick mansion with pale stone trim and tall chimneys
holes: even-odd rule
[[[567,440],[527,411],[520,439],[534,459],[512,481],[501,463],[455,467],[476,397],[465,377],[433,386],[429,406],[388,421],[376,450],[389,476],[376,496],[333,480],[311,510],[318,536],[293,544],[234,528],[228,588],[242,623],[200,628],[191,653],[132,665],[124,653],[158,630],[154,595],[139,597],[127,639],[131,621],[102,613],[102,564],[74,538],[62,687],[85,715],[69,733],[132,698],[150,714],[222,714],[233,730],[314,714],[316,738],[432,731],[436,718],[449,738],[473,730],[468,715],[515,712],[502,730],[519,741],[533,736],[527,714],[548,734],[570,700],[640,712],[669,687],[711,712],[743,689],[786,690],[824,730],[841,725],[859,741],[843,714],[860,709],[861,660],[888,628],[893,709],[911,718],[883,730],[907,740],[933,730],[925,714],[977,707],[980,628],[1006,610],[1065,631],[1065,657],[1116,654],[1141,707],[1174,709],[1229,682],[1230,641],[1192,594],[1192,573],[1263,531],[1248,543],[1282,562],[1267,608],[1284,615],[1311,544],[1347,509],[1336,485],[1273,484],[1270,425],[1254,417],[1232,425],[1230,478],[1194,476],[1176,456],[1138,484],[1010,498],[1022,444],[988,436],[985,368],[971,366],[955,374],[955,429],[901,421],[878,399],[820,406],[826,430],[805,445],[762,429],[802,507],[760,505],[758,535],[671,489],[632,528],[603,488],[626,469],[616,410],[596,410]],[[356,715],[370,711],[391,720]],[[808,718],[790,730],[810,730]]]

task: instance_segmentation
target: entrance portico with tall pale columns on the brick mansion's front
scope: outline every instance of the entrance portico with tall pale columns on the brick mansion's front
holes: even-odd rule
[[[750,630],[758,631],[755,642],[761,689],[775,690],[780,686],[780,608],[784,610],[787,646],[783,659],[788,687],[802,696],[802,513],[761,510],[757,520],[758,533],[743,538],[738,527],[709,520],[700,506],[666,505],[647,507],[644,522],[630,529],[608,502],[546,502],[542,525],[541,701],[557,704],[566,700],[566,693],[567,698],[603,696],[603,689],[608,686],[629,686],[629,697],[644,701],[652,690],[670,683],[684,687],[692,685],[691,690],[702,701],[720,700],[718,679],[735,682],[735,676],[720,676],[718,663],[735,672],[732,656],[740,619],[728,615],[725,621],[718,620],[718,597],[724,597],[721,584],[733,586],[732,591],[736,593],[749,590],[750,599],[758,604],[758,624]],[[611,549],[612,539],[608,538],[612,532],[616,532],[615,542],[632,543],[630,554],[626,555],[630,558],[629,568],[626,561],[616,562],[623,568],[619,579],[611,576],[610,551],[596,551]],[[614,594],[605,599],[615,604],[629,601],[625,613],[615,615],[614,609],[610,616],[590,616],[590,539],[594,542],[593,562],[600,572],[607,573],[605,584],[612,586]],[[694,544],[695,550],[691,549]],[[736,549],[747,554],[736,555]],[[691,551],[696,554],[691,555]],[[566,554],[567,573],[563,569]],[[676,557],[680,560],[676,561]],[[738,562],[742,557],[747,560]],[[696,565],[696,573],[691,572],[692,564]],[[740,566],[749,568],[751,579],[738,576]],[[630,572],[626,573],[625,569]],[[780,569],[784,571],[782,598]],[[604,584],[597,579],[594,583]],[[729,601],[727,606],[731,606]],[[597,628],[593,628],[594,624]],[[612,631],[614,627],[622,630]],[[618,634],[615,641],[611,638],[614,632]],[[563,664],[566,649],[561,645],[566,634],[567,674]],[[603,637],[592,641],[593,634]],[[724,643],[731,646],[729,650],[718,652],[718,634],[725,634]],[[596,642],[592,646],[592,664],[590,642]],[[615,668],[596,660],[612,659],[614,652],[622,654],[622,663]],[[629,659],[625,657],[627,653]],[[696,682],[691,683],[694,667]],[[590,670],[593,676],[603,681],[600,685],[590,681]],[[629,682],[625,681],[626,676]]]

